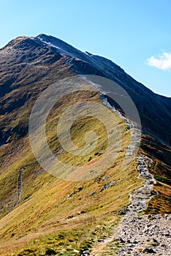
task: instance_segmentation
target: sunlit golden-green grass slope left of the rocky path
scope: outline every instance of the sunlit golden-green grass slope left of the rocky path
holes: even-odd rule
[[[83,116],[78,119],[71,130],[71,136],[73,141],[77,142],[77,146],[83,144],[85,132],[92,129],[96,132],[98,143],[91,154],[75,157],[73,162],[73,157],[62,151],[58,143],[56,122],[62,110],[64,111],[73,100],[77,102],[77,100],[87,99],[101,104],[99,94],[95,91],[84,94],[79,92],[72,97],[64,97],[59,107],[52,110],[47,120],[47,140],[51,150],[54,154],[58,153],[61,161],[77,166],[91,165],[102,157],[107,148],[107,130],[96,118]],[[104,219],[118,219],[115,211],[126,206],[128,192],[140,186],[141,181],[136,178],[134,162],[126,171],[123,172],[121,169],[125,148],[130,142],[130,131],[126,130],[126,125],[118,116],[115,118],[118,120],[122,135],[118,157],[108,170],[90,181],[71,182],[50,176],[34,159],[27,136],[6,146],[6,150],[9,147],[11,149],[15,147],[15,151],[12,159],[9,159],[10,165],[1,167],[0,236],[2,248],[8,243],[12,243],[14,247],[20,246],[20,243],[25,244],[32,238],[58,233],[59,230],[72,230],[74,233],[79,233],[81,232],[79,229],[83,229],[83,233],[93,232],[96,225],[102,224]],[[117,140],[117,135],[115,138]],[[18,143],[22,145],[22,150]],[[26,168],[22,174],[20,200],[15,206],[18,198],[18,174],[22,167]],[[71,196],[68,197],[68,195]],[[7,215],[4,216],[4,214]],[[80,241],[87,240],[85,235],[81,236],[83,237]],[[77,242],[74,243],[75,246],[79,246]]]

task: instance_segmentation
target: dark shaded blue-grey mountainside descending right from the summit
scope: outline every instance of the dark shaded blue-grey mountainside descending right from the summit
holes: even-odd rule
[[[71,45],[66,44],[66,42],[46,36],[45,34],[40,34],[37,38],[41,39],[42,42],[46,42],[48,45],[54,45],[58,52],[64,50],[64,53],[72,58],[71,62],[75,72],[86,75],[102,75],[121,85],[131,95],[134,104],[137,106],[140,117],[142,118],[142,126],[167,143],[171,143],[171,129],[170,122],[168,122],[171,118],[170,98],[154,94],[153,91],[147,89],[141,83],[138,83],[127,75],[121,67],[118,67],[118,65],[109,59],[105,59],[102,56],[95,56],[88,52],[83,53]],[[109,96],[113,93],[115,93],[113,89],[108,91]],[[152,105],[151,102],[153,102]],[[113,104],[115,103],[113,102]]]

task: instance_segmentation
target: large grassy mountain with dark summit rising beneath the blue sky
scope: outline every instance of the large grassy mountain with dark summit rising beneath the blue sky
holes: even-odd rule
[[[144,214],[170,214],[170,98],[154,94],[113,61],[83,53],[45,34],[18,37],[1,48],[0,74],[1,255],[56,255],[57,252],[58,255],[78,255],[85,248],[91,251],[96,241],[111,236],[122,214],[137,212],[132,202],[134,211],[128,207],[129,195],[137,200],[134,191],[145,182],[149,191],[145,192],[144,187],[139,191],[144,200],[139,202],[139,210]],[[99,171],[99,175],[92,170],[91,179],[79,182],[45,172],[35,159],[28,138],[31,110],[42,91],[53,83],[74,79],[75,75],[83,88],[98,84],[102,86],[101,92],[94,86],[93,90],[74,91],[53,105],[46,124],[48,146],[53,154],[61,162],[85,166],[86,171],[102,159],[107,149],[104,124],[88,115],[75,120],[71,138],[75,145],[83,147],[86,131],[93,129],[97,135],[96,148],[80,156],[68,154],[61,148],[56,122],[73,102],[107,105],[114,110],[112,114],[121,130],[121,148],[116,148],[118,157],[113,165],[104,172]],[[134,158],[124,172],[122,162],[131,148],[130,132],[136,126],[136,119],[125,116],[114,100],[116,96],[124,102],[124,95],[115,91],[115,87],[107,86],[107,79],[129,94],[142,123],[137,160]],[[113,128],[113,131],[116,143],[118,130]],[[134,145],[136,143],[134,138]],[[108,155],[107,161],[110,161]],[[145,175],[137,177],[139,165],[145,166]],[[146,173],[146,167],[151,174]],[[60,169],[59,165],[56,168]]]

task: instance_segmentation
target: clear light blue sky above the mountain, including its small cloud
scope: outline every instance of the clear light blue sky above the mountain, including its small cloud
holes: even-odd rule
[[[0,0],[0,48],[48,34],[121,66],[171,97],[170,0]]]

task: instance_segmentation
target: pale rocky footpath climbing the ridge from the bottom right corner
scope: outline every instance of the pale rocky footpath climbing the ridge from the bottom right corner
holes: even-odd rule
[[[126,157],[134,157],[134,148],[140,140],[140,132],[134,127],[131,121],[115,110],[107,99],[101,95],[102,103],[112,109],[119,117],[121,117],[128,129],[132,129],[132,140],[129,144]],[[152,196],[156,195],[153,190],[153,184],[156,183],[153,176],[148,172],[148,167],[152,160],[145,155],[137,155],[137,173],[138,178],[142,179],[142,187],[135,189],[129,194],[129,206],[126,207],[126,215],[120,222],[118,227],[113,230],[113,235],[104,238],[103,241],[97,242],[91,252],[85,252],[80,255],[163,255],[171,256],[171,217],[154,215],[137,217],[146,203]],[[118,242],[118,248],[116,248]]]

